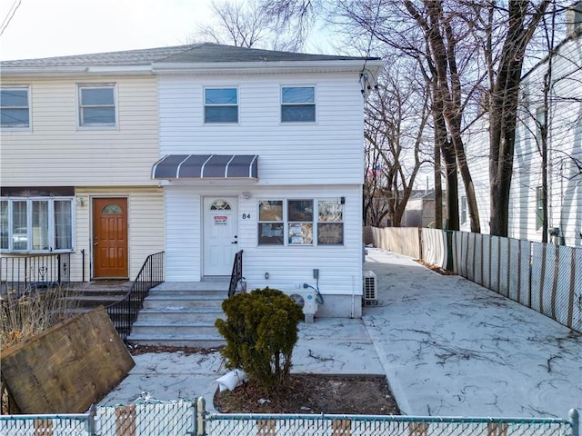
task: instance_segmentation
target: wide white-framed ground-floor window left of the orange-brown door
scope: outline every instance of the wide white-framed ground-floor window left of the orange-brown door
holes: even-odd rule
[[[0,250],[58,252],[73,250],[72,198],[0,200]]]

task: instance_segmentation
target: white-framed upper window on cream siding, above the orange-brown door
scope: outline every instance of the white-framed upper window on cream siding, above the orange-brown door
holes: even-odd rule
[[[115,126],[115,85],[79,84],[79,126]]]

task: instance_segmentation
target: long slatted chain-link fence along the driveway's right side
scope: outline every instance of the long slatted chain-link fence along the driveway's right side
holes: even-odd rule
[[[374,246],[454,272],[582,332],[582,249],[440,229],[372,228]]]

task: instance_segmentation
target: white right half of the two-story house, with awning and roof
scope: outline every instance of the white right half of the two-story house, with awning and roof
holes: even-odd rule
[[[360,316],[361,79],[379,66],[221,45],[154,64],[166,282],[230,275],[242,250],[249,289],[306,283],[318,316]]]

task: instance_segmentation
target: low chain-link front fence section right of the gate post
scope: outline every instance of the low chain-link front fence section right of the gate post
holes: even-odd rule
[[[512,420],[361,415],[210,415],[212,436],[566,436],[562,420]]]

